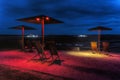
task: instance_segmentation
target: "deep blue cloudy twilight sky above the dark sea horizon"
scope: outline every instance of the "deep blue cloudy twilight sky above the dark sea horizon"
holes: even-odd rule
[[[8,29],[17,25],[38,29],[26,34],[41,34],[41,25],[16,21],[41,14],[64,22],[45,25],[46,35],[96,34],[88,29],[99,25],[113,28],[103,34],[120,34],[120,0],[0,0],[0,34],[21,34]]]

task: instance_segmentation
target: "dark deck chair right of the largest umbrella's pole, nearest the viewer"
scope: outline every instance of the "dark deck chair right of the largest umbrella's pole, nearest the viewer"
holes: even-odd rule
[[[52,58],[52,62],[51,64],[59,64],[61,65],[61,60],[60,60],[60,56],[58,55],[58,51],[55,45],[54,41],[49,42],[48,44],[48,49],[50,52],[50,57]]]

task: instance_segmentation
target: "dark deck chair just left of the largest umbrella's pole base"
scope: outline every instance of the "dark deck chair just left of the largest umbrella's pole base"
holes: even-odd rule
[[[41,45],[40,41],[34,41],[34,47],[37,50],[37,54],[32,57],[34,59],[35,57],[39,57],[41,61],[44,61],[46,59],[46,55],[44,54],[44,48]]]

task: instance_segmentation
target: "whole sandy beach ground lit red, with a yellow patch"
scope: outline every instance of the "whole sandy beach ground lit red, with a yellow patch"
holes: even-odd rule
[[[59,51],[61,65],[31,60],[35,54],[0,51],[0,80],[120,80],[120,54]]]

